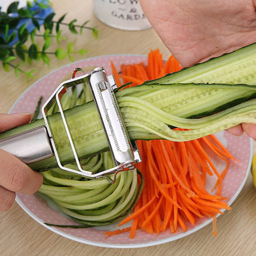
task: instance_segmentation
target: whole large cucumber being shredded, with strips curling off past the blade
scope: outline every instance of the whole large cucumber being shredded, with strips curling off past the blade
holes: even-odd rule
[[[256,123],[255,73],[256,44],[252,44],[163,78],[120,90],[116,98],[132,140],[192,140],[241,122]],[[238,84],[240,82],[246,84]],[[108,150],[94,102],[68,109],[65,116],[80,158]],[[73,162],[60,114],[50,116],[49,122],[62,163]],[[0,139],[43,124],[42,119],[36,120],[0,134]],[[172,130],[173,127],[191,130]],[[30,164],[34,170],[56,166],[55,157]]]

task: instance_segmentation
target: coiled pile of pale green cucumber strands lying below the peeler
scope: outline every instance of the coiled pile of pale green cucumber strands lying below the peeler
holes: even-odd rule
[[[57,178],[56,170],[44,172],[43,176],[44,182],[47,176],[48,179],[57,182],[57,186],[43,184],[39,192],[52,198],[62,212],[83,225],[46,223],[50,226],[84,228],[116,222],[136,205],[144,184],[142,174],[138,170],[140,185],[137,172],[121,172],[116,182],[109,184],[105,179],[76,181],[70,180],[67,176]],[[63,170],[60,172],[64,173]],[[65,183],[70,186],[61,187]]]

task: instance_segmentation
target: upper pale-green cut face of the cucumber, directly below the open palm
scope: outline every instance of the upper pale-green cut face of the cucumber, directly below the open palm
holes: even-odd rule
[[[146,84],[166,83],[220,83],[256,84],[256,43],[234,52],[211,58],[206,62],[183,68]]]

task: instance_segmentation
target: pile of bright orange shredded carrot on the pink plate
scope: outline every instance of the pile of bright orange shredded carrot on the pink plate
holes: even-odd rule
[[[142,84],[145,80],[156,79],[182,68],[173,56],[164,63],[158,49],[150,50],[148,65],[122,64],[120,74],[113,63],[111,66],[116,81],[121,78],[124,83],[132,82],[129,86]],[[217,214],[223,214],[221,209],[231,209],[224,202],[227,198],[221,196],[222,180],[229,163],[236,160],[230,152],[214,135],[188,142],[139,140],[137,145],[143,159],[138,169],[144,177],[144,188],[133,213],[119,223],[121,226],[132,220],[132,227],[104,234],[130,231],[130,238],[134,238],[137,229],[143,229],[149,234],[159,234],[167,228],[170,228],[171,233],[186,232],[188,222],[194,225],[198,218],[207,216],[213,219],[213,234],[217,236]],[[208,156],[209,151],[216,159],[226,163],[221,173]],[[217,177],[212,190],[216,190],[216,194],[206,190],[207,175]]]

